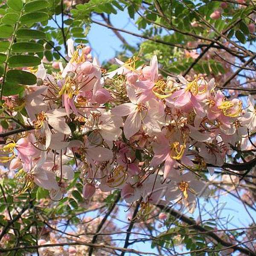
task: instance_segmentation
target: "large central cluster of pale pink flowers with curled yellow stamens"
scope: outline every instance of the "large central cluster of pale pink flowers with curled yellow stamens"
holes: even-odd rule
[[[107,72],[91,61],[90,47],[67,43],[65,68],[47,74],[41,64],[37,84],[5,98],[5,111],[20,111],[32,127],[1,147],[20,193],[36,184],[61,200],[79,171],[86,199],[119,189],[128,203],[140,201],[142,216],[151,204],[180,203],[193,212],[196,197],[209,195],[202,174],[213,175],[234,146],[247,147],[247,129],[256,128],[253,98],[243,108],[214,79],[165,78],[155,55],[149,65],[116,59],[120,67]]]

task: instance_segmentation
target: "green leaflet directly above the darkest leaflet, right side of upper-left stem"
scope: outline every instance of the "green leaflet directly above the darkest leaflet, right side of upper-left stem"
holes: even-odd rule
[[[40,64],[40,58],[30,55],[14,55],[9,58],[9,67],[34,67]]]

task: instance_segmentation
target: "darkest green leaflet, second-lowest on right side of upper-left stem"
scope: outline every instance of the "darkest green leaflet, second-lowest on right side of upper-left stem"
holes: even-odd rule
[[[6,80],[9,82],[15,82],[17,84],[36,84],[36,76],[23,70],[9,70],[6,73]]]

